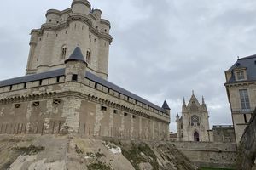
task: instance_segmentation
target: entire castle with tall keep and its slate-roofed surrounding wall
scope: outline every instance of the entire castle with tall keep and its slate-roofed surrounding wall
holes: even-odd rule
[[[108,82],[110,23],[87,0],[32,30],[26,76],[0,82],[0,133],[168,139],[170,108]]]

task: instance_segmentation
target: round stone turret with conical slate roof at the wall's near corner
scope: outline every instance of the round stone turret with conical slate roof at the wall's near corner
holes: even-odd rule
[[[75,48],[73,54],[65,60],[66,82],[82,82],[85,81],[85,72],[88,64],[84,60],[84,56],[79,47]]]

